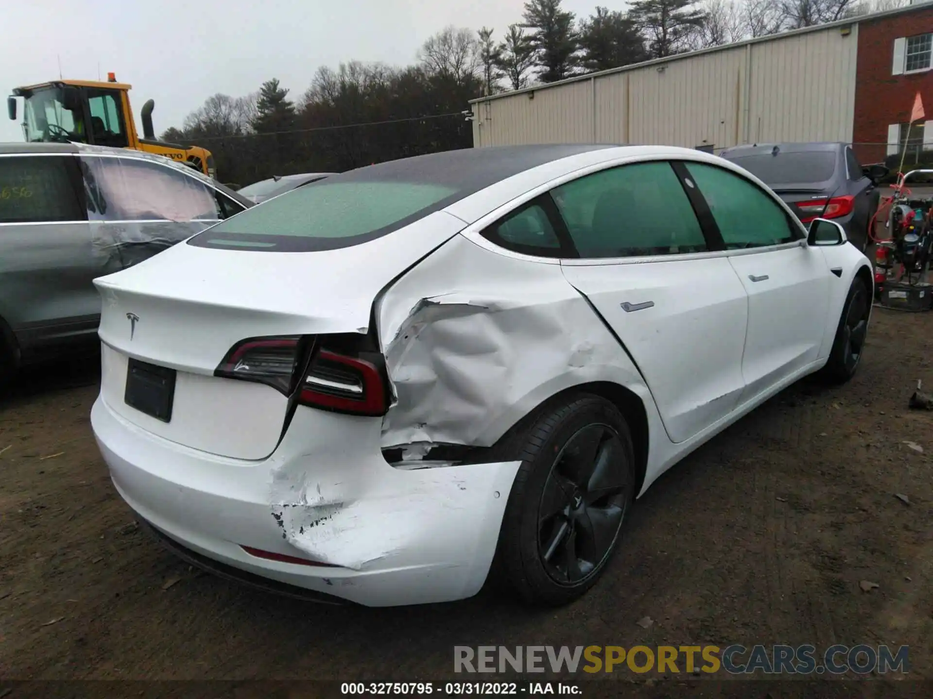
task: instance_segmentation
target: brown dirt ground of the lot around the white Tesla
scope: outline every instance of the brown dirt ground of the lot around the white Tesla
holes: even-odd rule
[[[665,474],[603,580],[548,611],[486,593],[326,607],[199,574],[110,485],[88,418],[95,364],[31,372],[0,402],[0,678],[412,680],[450,678],[454,645],[889,643],[911,646],[898,689],[933,696],[911,681],[933,679],[933,413],[907,409],[918,378],[933,390],[933,314],[872,323],[852,383],[798,384]],[[755,686],[738,695],[765,696]]]

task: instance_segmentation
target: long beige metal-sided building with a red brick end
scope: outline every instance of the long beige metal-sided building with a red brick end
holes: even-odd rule
[[[473,144],[842,141],[863,163],[900,152],[919,90],[933,160],[933,0],[636,63],[470,103]],[[925,152],[926,151],[926,152]]]

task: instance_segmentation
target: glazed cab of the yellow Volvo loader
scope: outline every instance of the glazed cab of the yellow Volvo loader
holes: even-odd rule
[[[28,143],[77,142],[117,148],[138,147],[129,85],[53,82],[13,90],[23,98],[23,135]],[[10,116],[15,117],[14,106]]]

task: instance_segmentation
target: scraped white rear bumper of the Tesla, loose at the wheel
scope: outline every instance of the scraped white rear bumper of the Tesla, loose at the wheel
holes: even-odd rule
[[[380,420],[299,408],[258,461],[178,445],[118,416],[91,425],[115,487],[170,541],[222,566],[368,606],[442,602],[485,582],[518,462],[402,471]],[[247,554],[249,546],[317,561]]]

